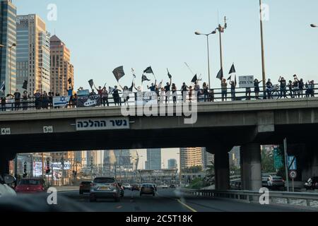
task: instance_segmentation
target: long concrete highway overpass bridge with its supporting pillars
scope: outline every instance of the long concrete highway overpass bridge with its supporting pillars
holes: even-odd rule
[[[216,155],[216,188],[228,189],[228,152],[241,146],[244,189],[261,186],[260,145],[281,144],[318,176],[318,98],[202,102],[195,124],[174,116],[122,117],[120,107],[0,112],[0,172],[16,153],[206,147]]]

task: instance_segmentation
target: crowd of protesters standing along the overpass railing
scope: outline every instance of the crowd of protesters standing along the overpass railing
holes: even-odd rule
[[[273,99],[273,98],[300,98],[300,97],[314,97],[314,81],[307,81],[304,83],[303,79],[298,79],[298,76],[293,76],[293,81],[286,81],[284,77],[280,77],[278,79],[278,84],[273,85],[271,79],[266,82],[266,87],[264,88],[264,99]],[[245,88],[245,92],[240,92],[240,97],[237,97],[237,82],[228,81],[226,79],[222,79],[220,83],[220,95],[222,101],[228,100],[228,94],[230,93],[231,100],[251,100],[254,98],[255,100],[259,100],[260,83],[263,81],[259,81],[257,79],[254,80],[254,97],[251,96],[252,88]],[[106,85],[106,84],[105,84]],[[126,105],[129,102],[131,94],[136,90],[136,94],[142,93],[142,88],[139,86],[136,88],[134,83],[131,84],[130,87],[119,85],[121,89],[116,86],[114,88],[107,88],[99,86],[98,88],[94,85],[92,87],[90,95],[100,96],[100,105],[101,106],[110,106],[109,97],[112,95],[112,100],[115,106]],[[157,81],[155,83],[151,83],[151,85],[147,85],[147,88],[150,92],[155,92],[158,97],[158,102],[170,102],[172,100],[173,103],[179,101],[179,96],[181,96],[181,101],[189,101],[197,100],[198,102],[214,102],[216,100],[215,93],[213,89],[208,87],[207,83],[203,83],[202,87],[199,85],[199,81],[195,81],[194,85],[187,85],[183,83],[181,88],[177,88],[175,83],[172,83],[172,78],[170,81],[163,86],[162,83],[157,85]],[[83,90],[83,88],[79,88],[78,92]],[[96,92],[95,92],[96,90]],[[76,103],[78,100],[77,94],[73,90],[73,86],[69,86],[66,88],[66,92],[69,95],[69,105],[68,107],[76,107]],[[178,94],[181,93],[181,95]],[[13,95],[4,95],[4,91],[0,90],[0,99],[1,99],[1,110],[6,111],[8,109],[8,104],[10,105],[9,109],[11,110],[27,110],[30,107],[35,109],[52,109],[53,108],[53,97],[59,97],[59,93],[52,92],[43,92],[40,93],[37,90],[34,94],[28,93],[26,90],[21,94],[18,90],[16,90]],[[32,101],[31,101],[32,100]],[[57,108],[57,107],[56,107]]]

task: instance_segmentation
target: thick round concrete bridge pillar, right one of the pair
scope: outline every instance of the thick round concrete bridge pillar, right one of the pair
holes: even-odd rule
[[[259,143],[248,143],[241,147],[242,189],[259,191],[261,189],[261,148]]]

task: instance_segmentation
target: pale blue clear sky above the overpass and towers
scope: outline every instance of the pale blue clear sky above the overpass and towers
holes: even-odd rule
[[[258,0],[13,0],[18,14],[36,13],[47,30],[63,40],[71,50],[75,88],[117,85],[112,71],[124,66],[121,85],[131,84],[131,68],[138,76],[152,66],[158,81],[168,81],[180,88],[190,83],[192,72],[208,81],[206,39],[195,31],[211,32],[228,17],[223,34],[225,74],[235,64],[237,76],[261,80],[261,40]],[[48,20],[47,6],[57,6],[57,20]],[[305,81],[317,78],[318,23],[317,0],[264,0],[269,6],[264,21],[266,76],[292,79],[298,74]],[[218,88],[220,70],[218,35],[210,36],[211,88]],[[154,80],[152,75],[149,78]],[[278,82],[277,82],[278,83]],[[144,90],[147,83],[144,83]],[[177,153],[178,150],[174,150]],[[175,156],[172,155],[172,157]],[[169,157],[167,157],[169,158]]]

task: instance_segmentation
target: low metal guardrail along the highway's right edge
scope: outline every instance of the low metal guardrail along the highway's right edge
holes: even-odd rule
[[[195,190],[195,189],[181,189],[184,194],[193,196],[216,197],[216,198],[232,198],[240,201],[255,201],[256,198],[262,195],[259,191],[218,191],[218,190]],[[270,203],[277,203],[275,199],[284,199],[287,204],[293,206],[300,206],[299,203],[305,202],[305,206],[318,208],[318,194],[302,193],[302,192],[285,192],[285,191],[270,191]],[[297,202],[295,202],[297,201]],[[315,202],[315,203],[314,203]]]

